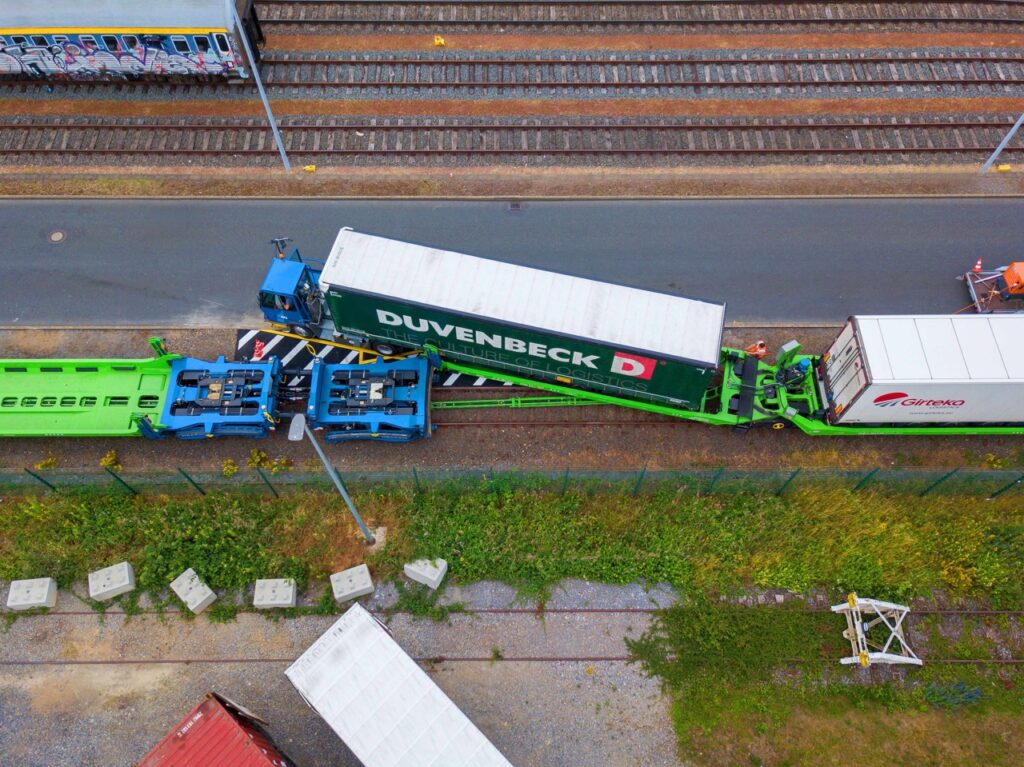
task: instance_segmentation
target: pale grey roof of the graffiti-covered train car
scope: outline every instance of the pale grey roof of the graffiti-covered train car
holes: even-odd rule
[[[0,30],[230,30],[232,0],[4,0]]]

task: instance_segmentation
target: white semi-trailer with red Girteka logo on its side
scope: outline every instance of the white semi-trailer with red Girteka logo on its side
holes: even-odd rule
[[[822,361],[837,425],[1024,422],[1024,314],[853,316]]]

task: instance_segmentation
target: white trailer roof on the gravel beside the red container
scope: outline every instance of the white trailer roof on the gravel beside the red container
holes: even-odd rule
[[[512,767],[358,604],[285,674],[366,767]]]

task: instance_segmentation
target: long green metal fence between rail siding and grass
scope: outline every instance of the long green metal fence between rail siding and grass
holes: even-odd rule
[[[354,492],[381,485],[411,489],[437,486],[508,487],[564,493],[627,492],[633,495],[665,489],[694,494],[762,493],[782,496],[808,486],[828,486],[851,493],[871,491],[898,495],[962,495],[994,499],[1019,493],[1024,472],[986,469],[736,469],[701,468],[680,471],[605,471],[563,469],[524,471],[502,467],[479,469],[409,469],[407,471],[340,471]],[[324,472],[240,468],[225,475],[218,471],[175,468],[161,471],[112,469],[0,469],[0,488],[7,492],[74,492],[77,488],[111,489],[130,494],[263,493],[274,497],[298,491],[330,489]]]

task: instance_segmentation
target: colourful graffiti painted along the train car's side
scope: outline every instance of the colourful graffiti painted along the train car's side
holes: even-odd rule
[[[166,38],[160,38],[161,41]],[[170,42],[169,40],[167,42]],[[147,41],[148,43],[148,41]],[[168,47],[171,47],[168,45]],[[245,77],[234,57],[216,50],[187,53],[143,44],[116,51],[82,42],[46,45],[13,43],[0,45],[0,76],[46,79],[134,79],[143,76],[236,75]]]

